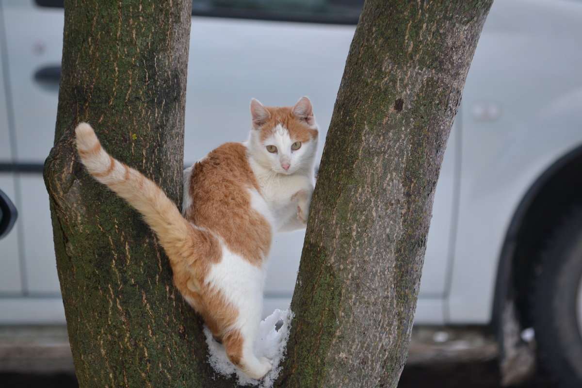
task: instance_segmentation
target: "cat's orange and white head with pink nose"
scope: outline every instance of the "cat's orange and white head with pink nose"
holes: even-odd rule
[[[283,108],[264,106],[253,98],[251,117],[249,147],[255,161],[284,175],[313,168],[318,132],[307,97]]]

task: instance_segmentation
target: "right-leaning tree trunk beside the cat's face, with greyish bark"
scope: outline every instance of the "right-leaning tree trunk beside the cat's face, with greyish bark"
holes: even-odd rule
[[[368,0],[328,131],[279,387],[396,387],[434,188],[492,0]]]

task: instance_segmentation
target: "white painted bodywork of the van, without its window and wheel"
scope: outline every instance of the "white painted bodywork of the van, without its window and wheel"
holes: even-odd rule
[[[0,9],[7,43],[0,40],[6,59],[0,71],[9,74],[0,80],[0,164],[41,166],[54,141],[58,87],[36,76],[59,66],[63,10],[19,0],[0,0]],[[580,20],[580,1],[494,2],[435,192],[416,323],[491,320],[498,261],[513,214],[537,177],[582,144]],[[221,143],[246,140],[253,97],[266,105],[310,97],[321,155],[353,31],[333,24],[193,17],[186,165]],[[15,230],[0,241],[0,323],[62,323],[40,173],[0,171],[0,187],[21,212]],[[289,302],[303,236],[275,236],[265,314]]]

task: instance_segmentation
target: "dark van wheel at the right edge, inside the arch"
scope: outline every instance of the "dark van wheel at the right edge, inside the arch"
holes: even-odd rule
[[[566,213],[535,271],[531,318],[542,365],[560,387],[582,387],[582,207]]]

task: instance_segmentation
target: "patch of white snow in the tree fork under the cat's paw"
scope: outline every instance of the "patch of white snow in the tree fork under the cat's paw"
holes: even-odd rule
[[[255,341],[254,347],[255,355],[257,357],[267,357],[273,365],[271,371],[261,381],[251,379],[249,376],[240,372],[226,356],[224,346],[214,340],[210,329],[204,326],[204,334],[206,336],[206,343],[208,344],[208,352],[210,353],[208,355],[210,365],[215,372],[223,376],[230,376],[235,373],[239,385],[271,388],[275,380],[279,377],[279,372],[281,372],[282,366],[279,366],[279,364],[285,358],[285,348],[287,346],[287,340],[289,339],[291,319],[293,319],[293,312],[290,309],[283,311],[276,309],[273,314],[267,316],[259,324],[257,340]]]

